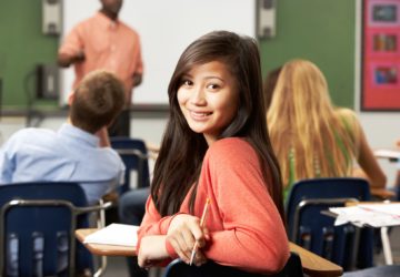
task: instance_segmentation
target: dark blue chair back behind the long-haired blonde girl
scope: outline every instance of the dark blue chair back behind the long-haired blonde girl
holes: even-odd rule
[[[287,203],[288,236],[291,242],[346,269],[372,266],[373,235],[347,224],[334,226],[334,218],[321,214],[349,201],[370,201],[366,179],[314,178],[296,183]],[[359,246],[356,245],[359,242]],[[357,257],[358,256],[358,257]],[[356,260],[358,258],[358,260]]]

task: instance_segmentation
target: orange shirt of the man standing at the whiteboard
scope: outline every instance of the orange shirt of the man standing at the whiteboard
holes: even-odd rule
[[[81,51],[84,53],[84,61],[74,63],[73,89],[87,73],[99,69],[108,70],[124,83],[130,103],[133,75],[143,72],[139,34],[120,20],[112,21],[98,12],[71,30],[59,53],[76,55]]]

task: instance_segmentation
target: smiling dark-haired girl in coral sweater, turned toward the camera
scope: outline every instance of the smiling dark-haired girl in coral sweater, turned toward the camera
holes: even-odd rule
[[[272,274],[289,258],[257,42],[208,33],[180,57],[170,117],[138,232],[141,267],[180,257]],[[209,202],[207,216],[204,205]],[[201,224],[203,223],[203,224]]]

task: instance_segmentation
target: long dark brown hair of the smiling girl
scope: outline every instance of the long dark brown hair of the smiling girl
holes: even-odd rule
[[[180,57],[169,88],[170,114],[154,166],[151,196],[161,216],[177,213],[200,174],[208,148],[202,134],[190,130],[178,104],[182,76],[193,66],[211,61],[223,62],[238,83],[239,107],[233,121],[219,138],[244,137],[258,154],[268,191],[283,218],[280,170],[267,132],[262,95],[260,55],[257,42],[228,31],[208,33],[191,43]],[[196,192],[191,192],[193,209]]]

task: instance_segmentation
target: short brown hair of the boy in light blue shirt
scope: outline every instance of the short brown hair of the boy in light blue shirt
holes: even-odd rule
[[[70,109],[71,123],[94,134],[117,117],[124,102],[122,82],[110,72],[93,71],[86,75],[74,91]]]

